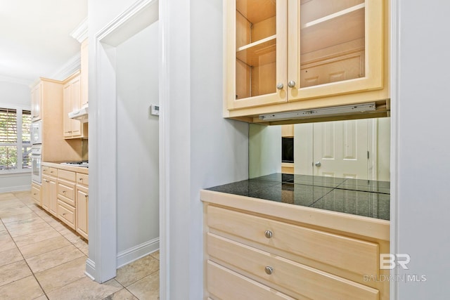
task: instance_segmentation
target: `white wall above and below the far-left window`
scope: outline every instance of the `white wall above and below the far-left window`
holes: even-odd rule
[[[0,106],[18,105],[31,109],[30,86],[0,79]],[[0,193],[31,188],[31,173],[0,174]]]

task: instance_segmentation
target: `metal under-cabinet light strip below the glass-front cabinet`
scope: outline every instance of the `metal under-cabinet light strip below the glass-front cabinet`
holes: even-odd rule
[[[317,116],[333,116],[356,112],[371,112],[376,110],[375,103],[365,103],[358,105],[344,105],[313,110],[297,110],[295,112],[278,112],[276,114],[259,115],[263,121],[283,120],[283,119],[307,119]]]

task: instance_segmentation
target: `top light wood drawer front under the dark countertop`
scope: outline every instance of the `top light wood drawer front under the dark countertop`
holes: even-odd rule
[[[208,205],[210,228],[361,275],[378,275],[378,244]],[[265,232],[270,231],[271,237]]]

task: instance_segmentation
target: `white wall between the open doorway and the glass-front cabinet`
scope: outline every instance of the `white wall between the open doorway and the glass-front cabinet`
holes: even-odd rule
[[[168,202],[169,219],[168,268],[162,273],[169,293],[161,299],[202,299],[199,191],[248,178],[248,124],[221,117],[222,1],[161,1],[160,6],[160,26],[167,34],[160,89],[167,176],[162,201]]]

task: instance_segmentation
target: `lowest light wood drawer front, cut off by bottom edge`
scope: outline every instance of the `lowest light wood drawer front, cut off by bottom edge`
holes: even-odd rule
[[[219,266],[212,261],[207,261],[207,289],[212,299],[293,300],[288,295]]]

